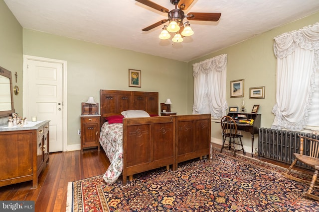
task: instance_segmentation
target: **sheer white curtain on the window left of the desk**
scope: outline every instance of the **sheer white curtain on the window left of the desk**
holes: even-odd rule
[[[210,113],[213,118],[221,118],[225,115],[228,107],[226,66],[226,54],[193,64],[193,114]]]

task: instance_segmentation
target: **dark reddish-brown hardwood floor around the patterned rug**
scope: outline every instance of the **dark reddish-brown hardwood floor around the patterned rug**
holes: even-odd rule
[[[213,146],[220,148],[217,144]],[[249,153],[246,155],[251,156]],[[261,160],[289,167],[285,163],[265,158]],[[35,212],[65,212],[68,182],[103,174],[109,164],[102,148],[101,151],[96,148],[87,149],[83,153],[81,151],[50,153],[49,162],[39,175],[36,189],[31,189],[31,181],[0,187],[0,200],[35,201]],[[308,172],[304,169],[300,171]]]

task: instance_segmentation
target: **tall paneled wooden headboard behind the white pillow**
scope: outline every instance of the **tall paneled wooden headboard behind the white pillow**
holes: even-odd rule
[[[145,110],[159,114],[159,93],[125,90],[100,90],[101,126],[105,118],[121,115],[124,110]]]

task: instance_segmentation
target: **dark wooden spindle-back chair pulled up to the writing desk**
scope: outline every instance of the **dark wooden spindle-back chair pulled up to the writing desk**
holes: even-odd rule
[[[221,128],[223,130],[223,144],[221,146],[220,152],[223,151],[225,146],[228,146],[229,149],[231,147],[234,148],[234,156],[236,156],[236,151],[243,151],[246,154],[243,146],[243,142],[241,141],[242,135],[237,134],[237,125],[234,119],[230,116],[224,116],[221,118]],[[226,144],[225,141],[229,138],[229,144]],[[236,145],[241,145],[241,149],[236,149]]]

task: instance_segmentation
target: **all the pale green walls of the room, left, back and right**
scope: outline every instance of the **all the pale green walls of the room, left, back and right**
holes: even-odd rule
[[[276,58],[273,53],[274,37],[316,23],[319,12],[270,30],[249,40],[213,52],[189,63],[88,43],[43,32],[22,29],[18,21],[0,0],[0,66],[18,74],[13,86],[20,88],[14,96],[16,112],[22,115],[22,63],[23,54],[67,61],[67,144],[79,144],[81,102],[93,96],[99,102],[100,89],[141,90],[159,92],[159,101],[172,101],[171,109],[181,114],[191,114],[193,106],[192,64],[218,56],[228,55],[227,84],[231,80],[245,79],[244,99],[247,112],[259,104],[261,126],[270,127],[275,104]],[[245,29],[243,29],[245,30]],[[128,69],[142,71],[142,87],[128,86]],[[249,88],[265,86],[265,99],[249,99]],[[230,98],[227,85],[228,106],[241,106],[242,98]],[[6,120],[4,120],[6,121]],[[221,141],[220,125],[212,121],[212,141]],[[3,119],[0,119],[0,124]],[[250,135],[243,133],[245,146],[251,146]],[[258,136],[255,136],[255,147]],[[250,151],[249,149],[246,150]]]

